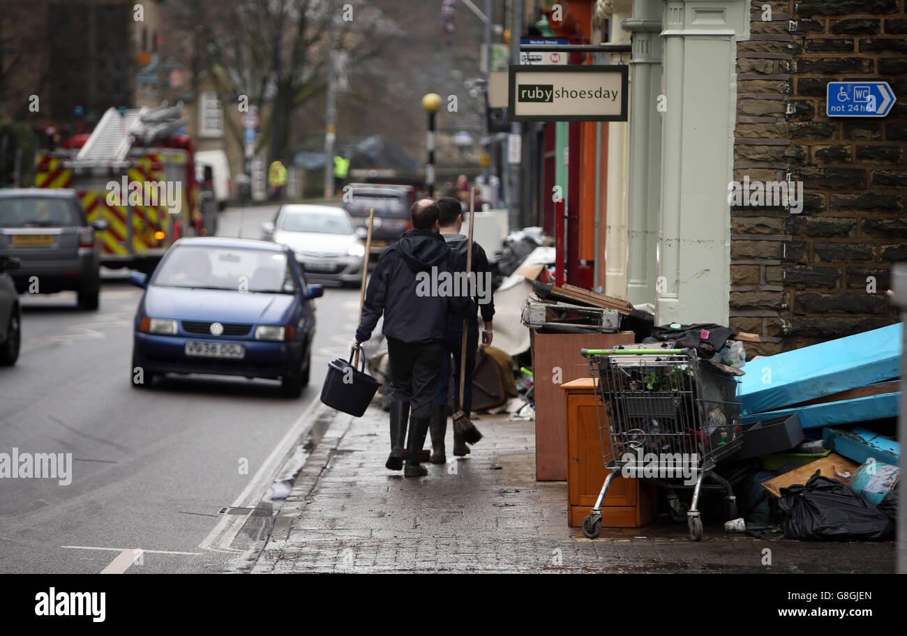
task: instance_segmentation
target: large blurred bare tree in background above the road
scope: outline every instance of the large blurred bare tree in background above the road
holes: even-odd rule
[[[193,82],[207,72],[223,103],[239,94],[262,113],[258,150],[286,157],[302,107],[327,88],[328,26],[336,49],[352,63],[374,57],[399,32],[367,0],[177,0],[168,3],[174,24],[193,43]],[[197,83],[195,88],[197,89]],[[225,118],[229,133],[242,131]]]

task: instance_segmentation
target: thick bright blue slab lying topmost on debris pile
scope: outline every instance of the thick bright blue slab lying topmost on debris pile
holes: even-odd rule
[[[740,383],[743,413],[786,409],[838,391],[901,375],[903,325],[748,362]]]

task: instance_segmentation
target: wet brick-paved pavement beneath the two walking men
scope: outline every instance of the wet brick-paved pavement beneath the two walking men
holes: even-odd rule
[[[805,543],[727,535],[706,525],[567,526],[567,485],[534,479],[534,422],[475,419],[485,435],[468,458],[427,477],[385,469],[387,415],[338,414],[297,476],[253,573],[888,573],[893,543]],[[427,444],[426,444],[427,445]],[[769,552],[766,552],[768,550]]]

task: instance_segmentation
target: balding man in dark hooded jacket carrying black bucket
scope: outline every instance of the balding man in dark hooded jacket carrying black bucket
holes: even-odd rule
[[[416,201],[410,208],[414,229],[385,249],[378,259],[366,289],[362,323],[356,329],[356,343],[365,342],[384,313],[382,331],[387,338],[390,388],[394,394],[391,453],[385,467],[403,467],[406,411],[411,409],[405,477],[428,474],[419,465],[419,456],[444,365],[448,313],[464,316],[469,311],[468,297],[457,297],[433,284],[439,276],[449,276],[452,269],[451,251],[438,234],[439,214],[431,199]]]

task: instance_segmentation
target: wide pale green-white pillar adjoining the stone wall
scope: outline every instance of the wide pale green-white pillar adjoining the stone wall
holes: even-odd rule
[[[665,0],[657,324],[728,322],[736,40],[749,0]]]

